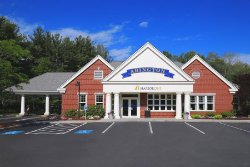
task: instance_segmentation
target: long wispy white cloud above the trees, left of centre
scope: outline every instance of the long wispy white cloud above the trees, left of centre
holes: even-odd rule
[[[123,25],[113,25],[110,29],[101,30],[97,32],[89,32],[87,30],[78,30],[74,28],[62,28],[58,30],[52,30],[52,33],[60,33],[64,37],[69,37],[71,39],[76,38],[81,35],[83,37],[90,37],[93,41],[101,43],[105,46],[110,46],[114,43],[119,43],[125,41],[127,38],[125,36],[119,36],[119,33],[123,29]]]

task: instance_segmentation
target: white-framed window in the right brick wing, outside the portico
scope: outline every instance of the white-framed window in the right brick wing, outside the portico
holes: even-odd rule
[[[213,111],[214,96],[190,96],[191,111]]]

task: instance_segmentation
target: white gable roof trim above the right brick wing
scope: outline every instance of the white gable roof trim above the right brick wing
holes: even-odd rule
[[[212,66],[210,66],[207,62],[205,62],[200,56],[195,55],[192,57],[186,64],[184,64],[181,68],[184,70],[186,67],[188,67],[190,64],[192,64],[195,60],[199,61],[201,64],[203,64],[206,68],[208,68],[214,75],[216,75],[219,79],[221,79],[225,84],[227,84],[230,89],[229,91],[231,93],[235,93],[238,91],[238,89],[232,84],[230,81],[228,81],[225,77],[223,77],[219,72],[217,72]]]

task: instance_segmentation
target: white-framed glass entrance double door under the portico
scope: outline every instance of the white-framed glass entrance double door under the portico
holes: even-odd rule
[[[124,98],[122,100],[122,116],[137,117],[138,100],[135,98]]]

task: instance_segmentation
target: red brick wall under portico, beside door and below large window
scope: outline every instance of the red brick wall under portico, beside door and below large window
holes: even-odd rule
[[[147,93],[140,94],[140,116],[145,117],[145,108],[147,107]],[[151,118],[174,118],[175,112],[151,112]]]

